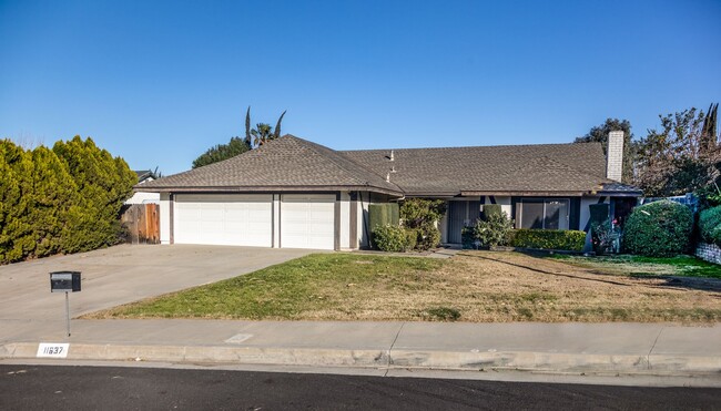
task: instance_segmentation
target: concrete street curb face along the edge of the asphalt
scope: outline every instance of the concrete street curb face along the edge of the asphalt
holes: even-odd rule
[[[38,343],[0,346],[1,359],[35,359]],[[62,361],[63,359],[58,359]],[[721,378],[721,358],[524,351],[351,350],[227,346],[123,346],[71,343],[64,360],[427,369],[517,370],[546,373],[622,373]]]

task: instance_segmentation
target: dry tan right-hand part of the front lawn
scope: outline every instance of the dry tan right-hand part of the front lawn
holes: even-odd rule
[[[441,273],[456,277],[454,307],[468,321],[721,320],[718,279],[619,276],[618,270],[487,251],[465,251]]]

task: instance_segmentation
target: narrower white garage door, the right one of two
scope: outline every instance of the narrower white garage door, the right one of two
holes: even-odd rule
[[[333,249],[334,215],[335,195],[283,195],[281,247]]]

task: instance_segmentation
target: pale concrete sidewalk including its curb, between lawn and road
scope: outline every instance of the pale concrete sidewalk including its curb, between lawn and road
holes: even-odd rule
[[[0,320],[1,359],[69,342],[67,360],[721,379],[721,325]],[[62,360],[59,360],[62,361]]]

